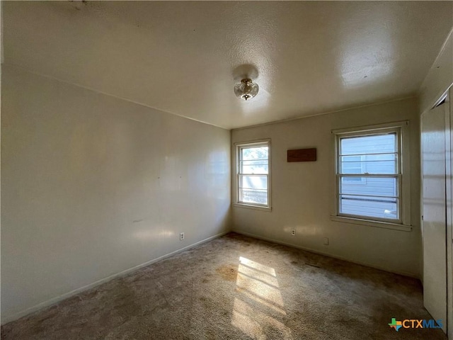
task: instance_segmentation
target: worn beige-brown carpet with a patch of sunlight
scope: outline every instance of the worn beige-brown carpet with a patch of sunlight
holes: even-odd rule
[[[447,339],[418,280],[228,234],[1,327],[1,339]]]

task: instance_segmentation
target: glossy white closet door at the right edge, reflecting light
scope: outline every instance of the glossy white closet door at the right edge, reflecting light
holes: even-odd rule
[[[423,302],[447,330],[445,105],[422,115]]]

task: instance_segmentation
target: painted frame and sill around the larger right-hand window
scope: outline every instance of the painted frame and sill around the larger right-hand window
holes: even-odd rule
[[[377,135],[379,133],[396,132],[398,138],[398,220],[385,219],[379,217],[366,217],[360,215],[348,215],[340,213],[340,138],[355,137],[366,135]],[[347,128],[332,130],[334,140],[334,176],[335,176],[335,196],[333,205],[333,215],[331,220],[337,222],[348,222],[357,225],[368,225],[371,227],[384,227],[387,229],[397,229],[411,231],[411,166],[410,166],[410,135],[408,120],[386,123],[379,125],[367,125],[357,128]],[[366,176],[366,175],[365,175]],[[372,176],[372,175],[370,175]]]

